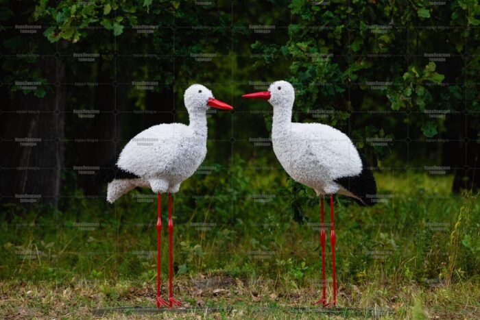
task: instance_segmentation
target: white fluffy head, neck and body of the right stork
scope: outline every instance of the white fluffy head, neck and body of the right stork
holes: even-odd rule
[[[359,153],[350,138],[329,125],[292,123],[295,90],[288,82],[274,82],[268,90],[268,101],[274,107],[272,144],[285,171],[317,195],[341,193],[352,197],[333,181],[362,171]]]

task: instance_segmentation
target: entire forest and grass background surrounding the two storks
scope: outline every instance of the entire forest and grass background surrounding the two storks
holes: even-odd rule
[[[176,292],[225,317],[317,316],[288,308],[320,295],[318,199],[276,160],[272,107],[241,99],[285,79],[293,120],[348,134],[379,186],[373,208],[335,199],[339,306],[479,317],[477,0],[0,2],[0,315],[153,305],[156,195],[110,205],[93,175],[188,123],[200,83],[235,110],[209,112],[174,196]]]

